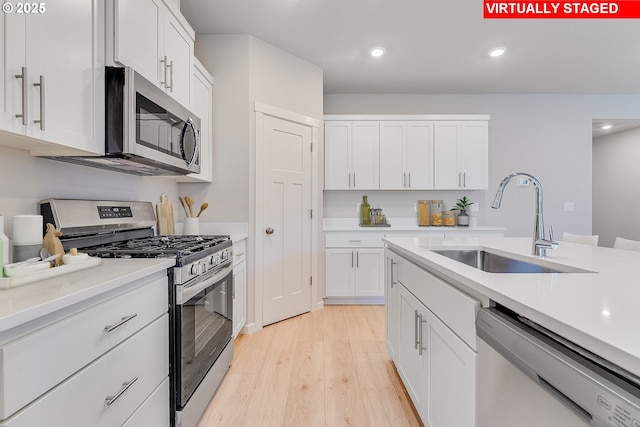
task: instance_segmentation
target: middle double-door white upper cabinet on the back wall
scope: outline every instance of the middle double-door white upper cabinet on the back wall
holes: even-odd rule
[[[380,189],[433,189],[433,122],[380,122]]]

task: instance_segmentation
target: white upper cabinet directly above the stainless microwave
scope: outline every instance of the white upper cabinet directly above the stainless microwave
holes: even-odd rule
[[[109,58],[132,67],[185,106],[191,104],[195,33],[172,3],[112,0]],[[143,16],[144,19],[140,19]]]

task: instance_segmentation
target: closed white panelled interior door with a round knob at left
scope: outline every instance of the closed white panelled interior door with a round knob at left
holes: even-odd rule
[[[311,127],[264,117],[263,325],[311,309]]]

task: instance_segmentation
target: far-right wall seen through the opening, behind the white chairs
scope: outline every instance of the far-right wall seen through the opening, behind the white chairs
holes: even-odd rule
[[[616,237],[640,240],[640,128],[593,140],[593,234],[600,246]]]

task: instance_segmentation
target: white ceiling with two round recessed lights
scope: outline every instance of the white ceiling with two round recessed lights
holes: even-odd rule
[[[640,20],[484,19],[481,0],[181,0],[196,34],[251,34],[324,93],[640,94]],[[383,46],[386,54],[368,51]],[[505,55],[490,58],[496,46]]]

